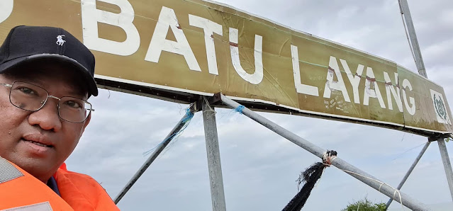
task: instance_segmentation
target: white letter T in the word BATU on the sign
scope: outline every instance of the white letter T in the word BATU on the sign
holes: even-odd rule
[[[203,28],[206,55],[208,56],[208,69],[210,74],[218,75],[216,47],[214,46],[214,34],[223,35],[222,25],[206,18],[192,16],[189,14],[189,24]]]

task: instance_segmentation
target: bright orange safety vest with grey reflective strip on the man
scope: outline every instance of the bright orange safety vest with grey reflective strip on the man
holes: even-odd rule
[[[0,157],[0,210],[119,210],[94,178],[67,171],[65,164],[53,176],[61,197]]]

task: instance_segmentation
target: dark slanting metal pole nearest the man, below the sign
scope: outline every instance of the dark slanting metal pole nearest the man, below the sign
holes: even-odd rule
[[[143,164],[142,167],[140,167],[140,169],[138,169],[138,171],[134,174],[134,176],[130,179],[130,181],[124,186],[123,190],[121,190],[121,192],[116,196],[116,198],[114,200],[115,204],[118,204],[118,202],[121,200],[121,198],[123,198],[123,196],[126,193],[128,193],[128,190],[130,188],[132,188],[132,186],[138,180],[138,178],[140,178],[140,176],[142,176],[142,174],[145,173],[146,169],[148,169],[148,167],[152,164],[152,162],[155,161],[157,156],[159,156],[159,154],[162,152],[162,150],[164,150],[165,147],[167,147],[169,142],[171,142],[172,139],[176,136],[176,134],[179,131],[181,131],[181,129],[184,127],[184,125],[186,125],[187,120],[189,120],[189,118],[191,118],[191,116],[193,116],[193,115],[194,115],[194,111],[193,111],[193,106],[191,105],[189,113],[186,113],[186,115],[184,115],[184,117],[181,118],[181,120],[179,120],[178,125],[176,125],[173,128],[172,132],[170,132],[167,135],[167,137],[165,137],[164,142],[162,142],[161,144],[159,144],[157,146],[155,151],[152,152],[150,157],[145,161],[145,164]]]

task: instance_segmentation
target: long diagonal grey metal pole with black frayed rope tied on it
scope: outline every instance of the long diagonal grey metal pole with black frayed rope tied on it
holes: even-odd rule
[[[231,108],[238,108],[240,106],[239,103],[236,103],[235,101],[223,95],[221,95],[221,98],[223,103],[225,105],[230,106]],[[311,152],[311,154],[314,154],[319,158],[322,158],[324,152],[326,152],[325,149],[322,149],[316,146],[315,144],[308,142],[306,139],[298,137],[297,135],[293,134],[293,132],[290,132],[289,130],[284,129],[281,126],[276,125],[274,122],[267,120],[266,118],[262,117],[261,115],[255,113],[254,111],[248,108],[243,108],[242,113],[247,117],[251,118],[252,120],[255,120],[259,124],[263,125],[264,127],[269,128],[269,130],[272,130],[277,134],[281,135],[282,137],[289,139],[289,141],[293,142],[299,147],[302,147],[303,149],[306,149],[308,152]],[[409,195],[406,195],[405,193],[401,193],[401,191],[391,188],[391,186],[388,186],[386,183],[379,182],[379,180],[374,176],[371,176],[369,175],[369,173],[357,169],[357,167],[348,164],[346,161],[343,161],[340,158],[333,159],[332,165],[336,166],[338,169],[342,171],[345,171],[354,178],[357,178],[359,181],[366,183],[368,186],[371,186],[371,188],[374,188],[379,192],[384,193],[388,197],[391,197],[394,200],[401,202],[403,205],[410,208],[411,210],[429,210],[423,203],[418,202],[417,200],[411,198]]]

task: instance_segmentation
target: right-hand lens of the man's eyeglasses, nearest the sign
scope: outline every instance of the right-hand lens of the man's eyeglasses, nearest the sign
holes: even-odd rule
[[[91,104],[73,97],[62,97],[58,104],[60,118],[68,122],[83,122],[91,112]]]

